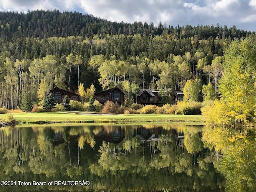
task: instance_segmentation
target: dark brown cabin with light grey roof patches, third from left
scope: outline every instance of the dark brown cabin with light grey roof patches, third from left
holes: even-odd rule
[[[138,94],[136,94],[136,103],[137,104],[143,104],[143,105],[147,105],[147,104],[151,104],[151,105],[159,105],[160,104],[160,92],[161,90],[158,89],[154,89],[154,90],[150,90],[150,89],[141,89]],[[167,97],[167,93],[166,93],[166,97]]]

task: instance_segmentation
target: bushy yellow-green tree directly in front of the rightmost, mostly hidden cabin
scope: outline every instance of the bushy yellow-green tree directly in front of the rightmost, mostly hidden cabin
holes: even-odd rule
[[[200,79],[188,80],[184,86],[184,101],[187,102],[189,100],[197,101],[198,93],[202,88],[202,82]]]

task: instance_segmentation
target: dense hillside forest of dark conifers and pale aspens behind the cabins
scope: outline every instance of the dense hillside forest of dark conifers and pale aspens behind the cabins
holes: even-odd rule
[[[38,102],[54,86],[96,92],[115,85],[165,89],[190,79],[218,94],[223,54],[234,38],[254,35],[219,26],[117,23],[78,12],[0,12],[0,108],[17,108],[28,92]],[[128,86],[127,86],[128,85]]]

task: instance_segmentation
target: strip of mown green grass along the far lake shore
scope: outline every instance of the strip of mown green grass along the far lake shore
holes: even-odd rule
[[[81,112],[29,112],[12,114],[17,123],[68,122],[204,122],[201,115],[80,114]],[[0,114],[4,120],[6,114]]]

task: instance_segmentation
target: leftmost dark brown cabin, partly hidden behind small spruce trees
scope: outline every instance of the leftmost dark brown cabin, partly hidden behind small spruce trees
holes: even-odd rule
[[[57,103],[62,103],[65,95],[68,95],[70,100],[80,100],[80,96],[78,94],[66,91],[64,89],[60,89],[58,87],[55,87],[54,89],[50,90],[49,93],[52,93],[54,95],[54,98],[56,99]]]

